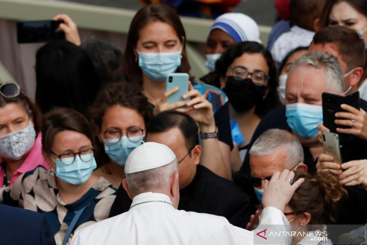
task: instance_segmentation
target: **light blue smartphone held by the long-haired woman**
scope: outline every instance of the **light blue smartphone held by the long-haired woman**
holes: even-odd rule
[[[178,101],[188,100],[182,98],[184,94],[189,91],[189,74],[188,73],[171,73],[166,79],[166,91],[175,87],[179,87],[179,90],[168,97],[167,103],[172,104]]]

